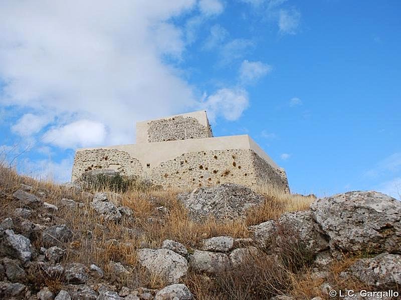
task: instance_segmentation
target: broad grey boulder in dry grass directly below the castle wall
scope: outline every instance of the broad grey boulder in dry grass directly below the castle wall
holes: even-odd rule
[[[218,220],[244,217],[247,209],[265,199],[249,187],[224,183],[212,187],[199,187],[192,192],[180,193],[181,200],[195,220],[215,217]]]

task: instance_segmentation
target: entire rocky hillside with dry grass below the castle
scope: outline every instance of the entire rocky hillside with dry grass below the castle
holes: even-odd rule
[[[401,203],[374,191],[115,192],[0,167],[0,201],[2,299],[399,298]]]

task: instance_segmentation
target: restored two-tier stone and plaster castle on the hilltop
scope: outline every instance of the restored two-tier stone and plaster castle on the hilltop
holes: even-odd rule
[[[287,176],[247,134],[214,137],[206,111],[136,123],[136,144],[77,149],[72,181],[114,169],[163,187],[269,184],[289,192]]]

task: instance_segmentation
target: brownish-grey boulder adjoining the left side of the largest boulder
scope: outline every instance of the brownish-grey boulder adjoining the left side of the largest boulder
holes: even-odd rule
[[[295,241],[302,242],[309,251],[320,252],[329,247],[319,226],[313,219],[311,210],[286,212],[278,220],[280,235],[292,235]]]

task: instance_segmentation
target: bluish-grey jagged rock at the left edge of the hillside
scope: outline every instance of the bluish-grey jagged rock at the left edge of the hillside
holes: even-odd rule
[[[15,234],[13,230],[7,229],[0,243],[0,253],[26,262],[32,257],[31,241],[24,235]]]

